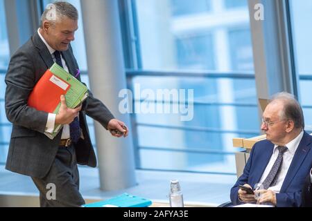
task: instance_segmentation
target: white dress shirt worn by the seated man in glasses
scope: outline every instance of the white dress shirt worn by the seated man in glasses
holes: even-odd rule
[[[281,171],[277,177],[277,182],[275,183],[275,186],[270,186],[268,189],[271,191],[274,191],[275,193],[279,193],[281,190],[281,185],[283,184],[287,171],[289,169],[289,166],[291,166],[291,162],[293,160],[293,156],[295,155],[295,152],[299,146],[300,141],[302,140],[304,131],[301,131],[297,137],[295,137],[294,140],[286,144],[285,146],[288,148],[287,151],[285,151],[283,155],[283,161],[281,163]],[[262,177],[260,179],[259,183],[263,183],[264,180],[266,180],[266,177],[270,173],[270,170],[272,169],[272,166],[277,159],[277,156],[279,155],[279,150],[277,148],[277,145],[274,146],[272,156],[268,162],[268,165],[266,166],[266,170],[262,174]],[[254,186],[252,186],[254,187]]]

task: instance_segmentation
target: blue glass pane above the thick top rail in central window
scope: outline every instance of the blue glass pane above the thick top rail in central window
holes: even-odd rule
[[[136,0],[139,69],[253,70],[246,1],[239,10],[209,2]]]

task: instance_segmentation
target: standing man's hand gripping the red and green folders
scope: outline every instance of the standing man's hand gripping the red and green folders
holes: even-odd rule
[[[70,124],[71,122],[73,122],[73,119],[78,116],[82,105],[78,106],[75,109],[68,108],[64,95],[60,96],[60,101],[60,110],[55,117],[55,124]]]

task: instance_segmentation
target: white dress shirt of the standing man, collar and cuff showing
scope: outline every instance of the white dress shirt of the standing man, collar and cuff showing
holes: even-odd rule
[[[56,59],[55,59],[54,54],[53,54],[55,52],[55,49],[51,48],[51,46],[49,46],[49,44],[46,43],[46,40],[42,37],[42,35],[39,32],[39,28],[38,28],[37,32],[38,32],[38,35],[40,36],[40,38],[42,39],[42,41],[44,42],[44,44],[46,45],[46,47],[48,48],[48,50],[49,50],[49,52],[53,58],[53,61],[56,62]],[[61,59],[62,59],[62,65],[63,65],[64,70],[69,72],[68,67],[66,65],[66,62],[63,59],[62,55],[61,55]],[[54,125],[55,125],[55,117],[56,117],[56,115],[54,113],[49,113],[48,120],[46,122],[46,130],[45,130],[47,133],[53,132]],[[70,137],[69,124],[64,124],[61,139],[68,139],[69,137]]]

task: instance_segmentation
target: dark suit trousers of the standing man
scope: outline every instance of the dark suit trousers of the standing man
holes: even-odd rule
[[[79,173],[73,145],[58,148],[49,173],[43,177],[31,177],[40,191],[40,206],[63,207],[85,204],[79,193]]]

